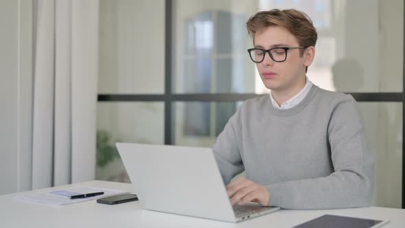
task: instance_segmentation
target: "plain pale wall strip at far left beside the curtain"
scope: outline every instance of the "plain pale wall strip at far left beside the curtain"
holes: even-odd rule
[[[0,1],[0,194],[31,188],[32,2]]]

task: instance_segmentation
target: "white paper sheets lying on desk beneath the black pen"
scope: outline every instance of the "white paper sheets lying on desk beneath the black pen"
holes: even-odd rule
[[[102,195],[91,196],[86,198],[75,198],[71,199],[70,196],[75,196],[78,194],[89,194],[92,192],[104,192]],[[57,190],[50,192],[36,192],[25,194],[22,196],[16,196],[14,199],[16,201],[22,201],[27,203],[39,203],[42,205],[48,205],[53,207],[60,207],[62,205],[68,205],[71,203],[79,203],[83,201],[91,201],[95,198],[102,198],[106,196],[114,196],[117,194],[122,194],[123,191],[110,190],[101,187],[71,187],[65,190]]]

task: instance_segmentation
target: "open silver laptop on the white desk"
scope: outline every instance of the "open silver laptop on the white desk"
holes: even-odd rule
[[[117,143],[143,209],[238,222],[279,207],[232,207],[210,148]]]

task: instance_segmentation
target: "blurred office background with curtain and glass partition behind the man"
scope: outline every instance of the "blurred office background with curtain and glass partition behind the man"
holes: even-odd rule
[[[245,23],[271,8],[314,21],[308,78],[358,100],[374,204],[403,207],[401,0],[0,0],[0,194],[128,182],[117,141],[212,146],[243,100],[268,93]]]

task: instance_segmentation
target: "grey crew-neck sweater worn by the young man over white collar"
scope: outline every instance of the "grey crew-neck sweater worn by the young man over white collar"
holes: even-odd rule
[[[365,207],[373,194],[373,153],[351,95],[313,85],[291,109],[270,96],[246,100],[213,146],[224,183],[245,171],[285,209]]]

